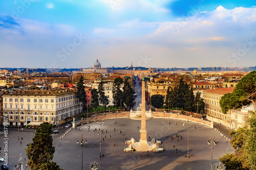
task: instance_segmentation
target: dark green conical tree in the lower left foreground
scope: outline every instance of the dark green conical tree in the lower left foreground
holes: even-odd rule
[[[55,148],[52,145],[52,125],[50,123],[42,123],[36,128],[35,136],[32,143],[27,144],[26,149],[28,162],[27,165],[31,170],[36,169],[60,169],[53,159]]]

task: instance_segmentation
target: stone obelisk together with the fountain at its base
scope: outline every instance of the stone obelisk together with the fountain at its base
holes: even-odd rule
[[[130,140],[129,142],[125,141],[129,145],[129,149],[124,149],[124,151],[156,151],[156,149],[162,150],[161,148],[156,147],[156,144],[161,144],[161,141],[152,140],[152,142],[147,141],[146,137],[146,105],[145,105],[145,81],[142,79],[142,102],[141,102],[141,130],[140,130],[140,141],[135,142],[135,140]],[[154,145],[155,144],[155,145]],[[162,150],[163,151],[163,150]],[[160,152],[162,152],[160,151]],[[157,152],[157,151],[156,151]]]

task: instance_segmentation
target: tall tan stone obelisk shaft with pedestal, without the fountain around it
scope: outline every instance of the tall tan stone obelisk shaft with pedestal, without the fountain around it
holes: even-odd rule
[[[146,138],[146,105],[145,105],[145,81],[142,78],[142,99],[141,99],[141,130],[139,146],[148,147]]]

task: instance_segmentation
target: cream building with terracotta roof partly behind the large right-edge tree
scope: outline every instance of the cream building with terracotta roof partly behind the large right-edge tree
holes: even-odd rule
[[[220,107],[221,97],[233,90],[234,88],[207,89],[203,91],[203,99],[207,119],[212,118],[216,123],[221,123],[231,129],[238,129],[246,125],[249,117],[248,109],[228,110],[227,114],[224,114]]]

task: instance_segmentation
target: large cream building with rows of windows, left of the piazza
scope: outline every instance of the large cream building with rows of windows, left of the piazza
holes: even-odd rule
[[[20,90],[3,95],[3,114],[8,126],[57,123],[81,112],[73,90]]]

